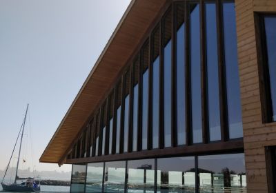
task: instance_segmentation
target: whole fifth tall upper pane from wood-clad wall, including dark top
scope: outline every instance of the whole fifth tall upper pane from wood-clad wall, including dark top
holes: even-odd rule
[[[172,145],[172,41],[171,10],[164,21],[164,142],[165,147]]]

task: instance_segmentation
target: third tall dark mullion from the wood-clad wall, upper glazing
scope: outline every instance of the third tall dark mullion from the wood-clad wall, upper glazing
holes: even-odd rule
[[[192,103],[191,103],[191,75],[190,75],[190,10],[188,2],[185,1],[185,73],[186,73],[186,145],[193,143],[193,128],[192,128]]]

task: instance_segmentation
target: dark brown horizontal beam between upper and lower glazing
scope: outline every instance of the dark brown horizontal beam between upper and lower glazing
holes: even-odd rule
[[[176,148],[164,148],[155,150],[143,150],[125,154],[114,154],[106,156],[95,156],[90,158],[71,159],[66,163],[94,163],[102,161],[125,161],[130,159],[149,159],[168,156],[192,156],[198,154],[219,154],[230,152],[243,152],[244,142],[242,139],[237,141],[221,141],[218,143],[196,144],[189,146],[179,146]]]

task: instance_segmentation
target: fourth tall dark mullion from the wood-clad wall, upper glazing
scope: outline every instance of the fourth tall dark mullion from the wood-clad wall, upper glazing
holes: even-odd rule
[[[171,26],[171,34],[172,34],[172,107],[171,107],[171,116],[172,116],[172,134],[171,141],[172,147],[177,146],[177,89],[176,89],[176,53],[177,53],[177,6],[176,3],[172,3],[172,26]]]

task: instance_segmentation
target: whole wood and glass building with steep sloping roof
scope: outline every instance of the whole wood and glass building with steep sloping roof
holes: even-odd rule
[[[72,192],[275,192],[275,70],[275,0],[133,0],[40,161]]]

